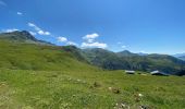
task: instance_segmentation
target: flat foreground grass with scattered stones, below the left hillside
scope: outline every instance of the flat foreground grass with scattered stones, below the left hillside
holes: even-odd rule
[[[132,109],[183,109],[184,83],[178,76],[127,75],[123,71],[1,70],[0,108],[112,109],[124,104]]]

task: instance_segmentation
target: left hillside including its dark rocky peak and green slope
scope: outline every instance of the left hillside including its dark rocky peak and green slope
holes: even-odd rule
[[[92,66],[74,46],[54,46],[28,32],[0,34],[0,69],[35,71],[81,71]]]

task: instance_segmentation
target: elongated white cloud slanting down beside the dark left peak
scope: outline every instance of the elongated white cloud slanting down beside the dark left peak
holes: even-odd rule
[[[37,26],[36,24],[34,24],[34,23],[28,23],[28,26],[29,26],[29,27],[33,27],[33,28],[37,32],[37,34],[39,34],[39,35],[46,35],[46,36],[51,35],[49,32],[42,31],[40,27],[38,27],[38,26]]]

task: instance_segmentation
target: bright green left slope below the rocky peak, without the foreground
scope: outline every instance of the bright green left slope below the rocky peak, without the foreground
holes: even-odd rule
[[[0,40],[0,68],[13,70],[95,69],[69,47],[18,44]]]

